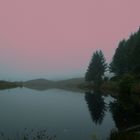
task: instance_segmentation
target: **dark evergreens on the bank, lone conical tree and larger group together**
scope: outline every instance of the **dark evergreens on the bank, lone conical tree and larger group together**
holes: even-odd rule
[[[114,74],[110,80],[104,75],[107,70]],[[110,64],[101,50],[94,52],[85,80],[97,88],[105,81],[114,81],[121,92],[140,92],[140,29],[120,41]]]

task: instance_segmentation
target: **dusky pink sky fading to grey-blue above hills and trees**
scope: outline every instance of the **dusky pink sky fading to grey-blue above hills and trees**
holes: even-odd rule
[[[139,0],[1,0],[0,79],[84,75],[140,26]]]

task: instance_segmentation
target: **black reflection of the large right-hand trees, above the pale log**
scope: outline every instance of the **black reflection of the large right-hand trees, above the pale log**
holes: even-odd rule
[[[124,130],[140,124],[140,105],[132,95],[120,94],[110,103],[110,111],[118,130]]]

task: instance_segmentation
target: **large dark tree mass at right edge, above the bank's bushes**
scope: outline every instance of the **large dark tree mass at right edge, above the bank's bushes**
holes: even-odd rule
[[[139,74],[140,72],[140,29],[131,34],[127,40],[120,41],[115,51],[110,71],[117,76],[124,73]]]

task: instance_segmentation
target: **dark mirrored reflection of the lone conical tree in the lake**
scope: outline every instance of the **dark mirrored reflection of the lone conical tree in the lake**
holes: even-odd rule
[[[101,125],[107,109],[101,91],[86,92],[85,100],[93,122],[96,125]]]

